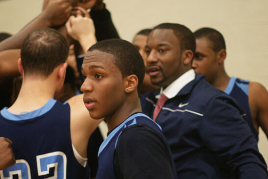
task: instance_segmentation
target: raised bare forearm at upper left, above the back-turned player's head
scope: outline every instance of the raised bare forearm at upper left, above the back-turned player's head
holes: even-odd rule
[[[34,30],[50,27],[50,22],[46,19],[43,13],[34,18],[25,27],[23,27],[15,35],[0,42],[0,51],[8,49],[20,49],[25,37]]]

